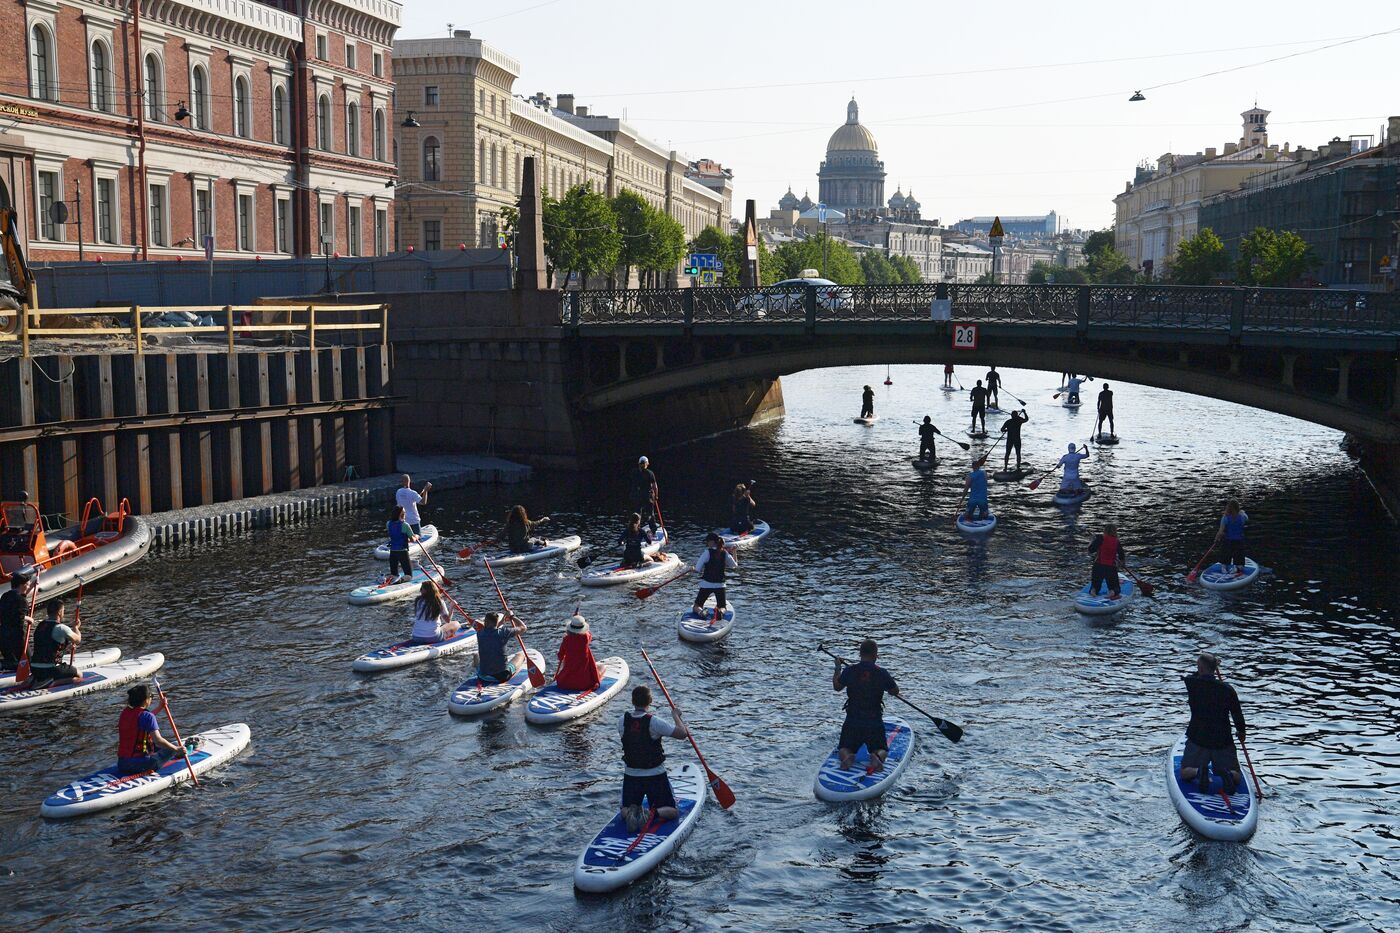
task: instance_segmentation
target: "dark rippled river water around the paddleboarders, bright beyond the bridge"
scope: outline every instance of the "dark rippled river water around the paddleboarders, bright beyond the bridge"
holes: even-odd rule
[[[496,600],[454,552],[508,504],[603,545],[622,475],[652,458],[680,552],[727,524],[756,479],[774,525],[741,555],[727,642],[676,639],[689,581],[640,602],[582,590],[571,563],[500,574],[532,646],[553,657],[581,602],[599,657],[633,682],[655,660],[711,766],[713,801],[658,873],[615,897],[573,891],[574,859],[617,799],[623,698],[554,730],[515,706],[448,716],[470,660],[365,677],[360,653],[406,633],[405,604],[344,594],[384,565],[368,513],[153,555],[92,587],[85,635],[167,654],[186,733],[248,721],[252,748],[136,806],[64,822],[39,803],[113,752],[122,696],[6,720],[0,891],[15,927],[539,930],[1396,930],[1400,929],[1400,573],[1397,537],[1336,431],[1189,395],[1114,385],[1123,443],[1095,451],[1079,511],[995,485],[1001,525],[966,541],[952,514],[967,457],[920,474],[914,417],[966,427],[941,371],[826,370],[784,380],[787,417],[666,451],[617,451],[617,475],[434,495],[458,598]],[[970,371],[960,371],[970,385]],[[1026,459],[1049,466],[1092,427],[1050,394],[1057,374],[1008,371],[1028,402]],[[862,382],[874,427],[853,424]],[[1004,395],[1004,402],[1009,399]],[[1002,416],[988,422],[995,430]],[[963,438],[966,440],[966,438]],[[958,457],[951,457],[951,454]],[[998,455],[1000,459],[1000,455]],[[1239,594],[1187,586],[1226,496],[1250,514],[1271,573]],[[1070,605],[1098,523],[1117,521],[1158,586],[1112,625]],[[833,807],[812,778],[840,698],[827,642],[861,636],[907,696],[962,724],[959,745],[911,710],[918,751],[899,787]],[[1250,720],[1266,783],[1247,843],[1193,836],[1166,797],[1163,755],[1186,723],[1179,677],[1217,651]],[[638,668],[643,674],[638,674]],[[659,698],[658,698],[659,699]],[[673,762],[690,759],[668,742]]]

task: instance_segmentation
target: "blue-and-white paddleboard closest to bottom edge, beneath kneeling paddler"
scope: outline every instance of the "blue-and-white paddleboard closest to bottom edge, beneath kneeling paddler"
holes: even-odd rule
[[[616,891],[643,877],[675,852],[700,818],[706,785],[704,772],[694,762],[668,769],[668,776],[680,815],[669,822],[651,820],[640,834],[634,834],[627,832],[622,814],[615,813],[602,832],[580,853],[578,864],[574,866],[574,887],[589,894]]]

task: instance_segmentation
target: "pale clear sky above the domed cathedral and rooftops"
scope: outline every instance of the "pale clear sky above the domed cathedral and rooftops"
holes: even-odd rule
[[[409,0],[403,15],[400,38],[452,22],[518,59],[518,94],[573,92],[721,161],[736,214],[753,198],[766,216],[790,184],[816,198],[851,94],[886,198],[913,189],[945,224],[1056,210],[1106,227],[1140,161],[1238,141],[1256,98],[1270,141],[1294,147],[1379,141],[1400,115],[1400,6],[1382,0]],[[1147,101],[1128,102],[1138,88]]]

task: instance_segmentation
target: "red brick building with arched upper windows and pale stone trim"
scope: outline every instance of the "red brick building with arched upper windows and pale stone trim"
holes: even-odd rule
[[[0,0],[0,203],[32,261],[384,255],[393,0]],[[55,223],[63,200],[69,221]]]

